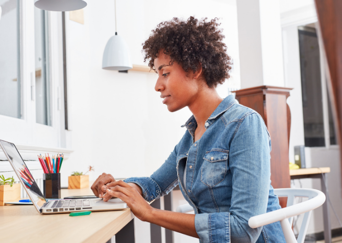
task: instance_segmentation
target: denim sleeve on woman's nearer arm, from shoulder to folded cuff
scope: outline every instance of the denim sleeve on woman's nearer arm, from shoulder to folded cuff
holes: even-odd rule
[[[229,212],[195,216],[196,231],[203,243],[256,242],[262,227],[252,229],[248,220],[267,210],[271,177],[269,145],[270,136],[260,115],[248,115],[229,146],[232,173]]]

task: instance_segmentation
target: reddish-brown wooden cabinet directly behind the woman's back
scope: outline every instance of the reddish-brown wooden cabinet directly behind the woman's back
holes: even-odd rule
[[[259,86],[235,91],[240,104],[258,112],[271,135],[271,184],[274,188],[290,187],[288,143],[291,124],[290,111],[286,103],[289,88]],[[286,198],[280,205],[286,207]]]

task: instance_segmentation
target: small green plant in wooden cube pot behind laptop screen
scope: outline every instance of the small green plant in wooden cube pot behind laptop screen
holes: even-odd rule
[[[20,199],[20,183],[14,182],[13,176],[5,179],[4,175],[0,175],[0,206]]]

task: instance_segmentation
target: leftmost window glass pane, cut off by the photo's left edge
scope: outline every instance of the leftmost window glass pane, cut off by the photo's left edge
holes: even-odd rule
[[[19,0],[0,6],[0,115],[21,118]]]

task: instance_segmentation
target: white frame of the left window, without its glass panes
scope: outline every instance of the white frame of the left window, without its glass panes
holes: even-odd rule
[[[50,62],[51,126],[36,123],[34,1],[19,1],[20,106],[21,118],[0,115],[0,139],[33,147],[65,147],[62,14],[47,12]],[[0,155],[0,159],[2,159]],[[25,158],[24,158],[25,159]],[[1,171],[1,170],[0,170]]]

